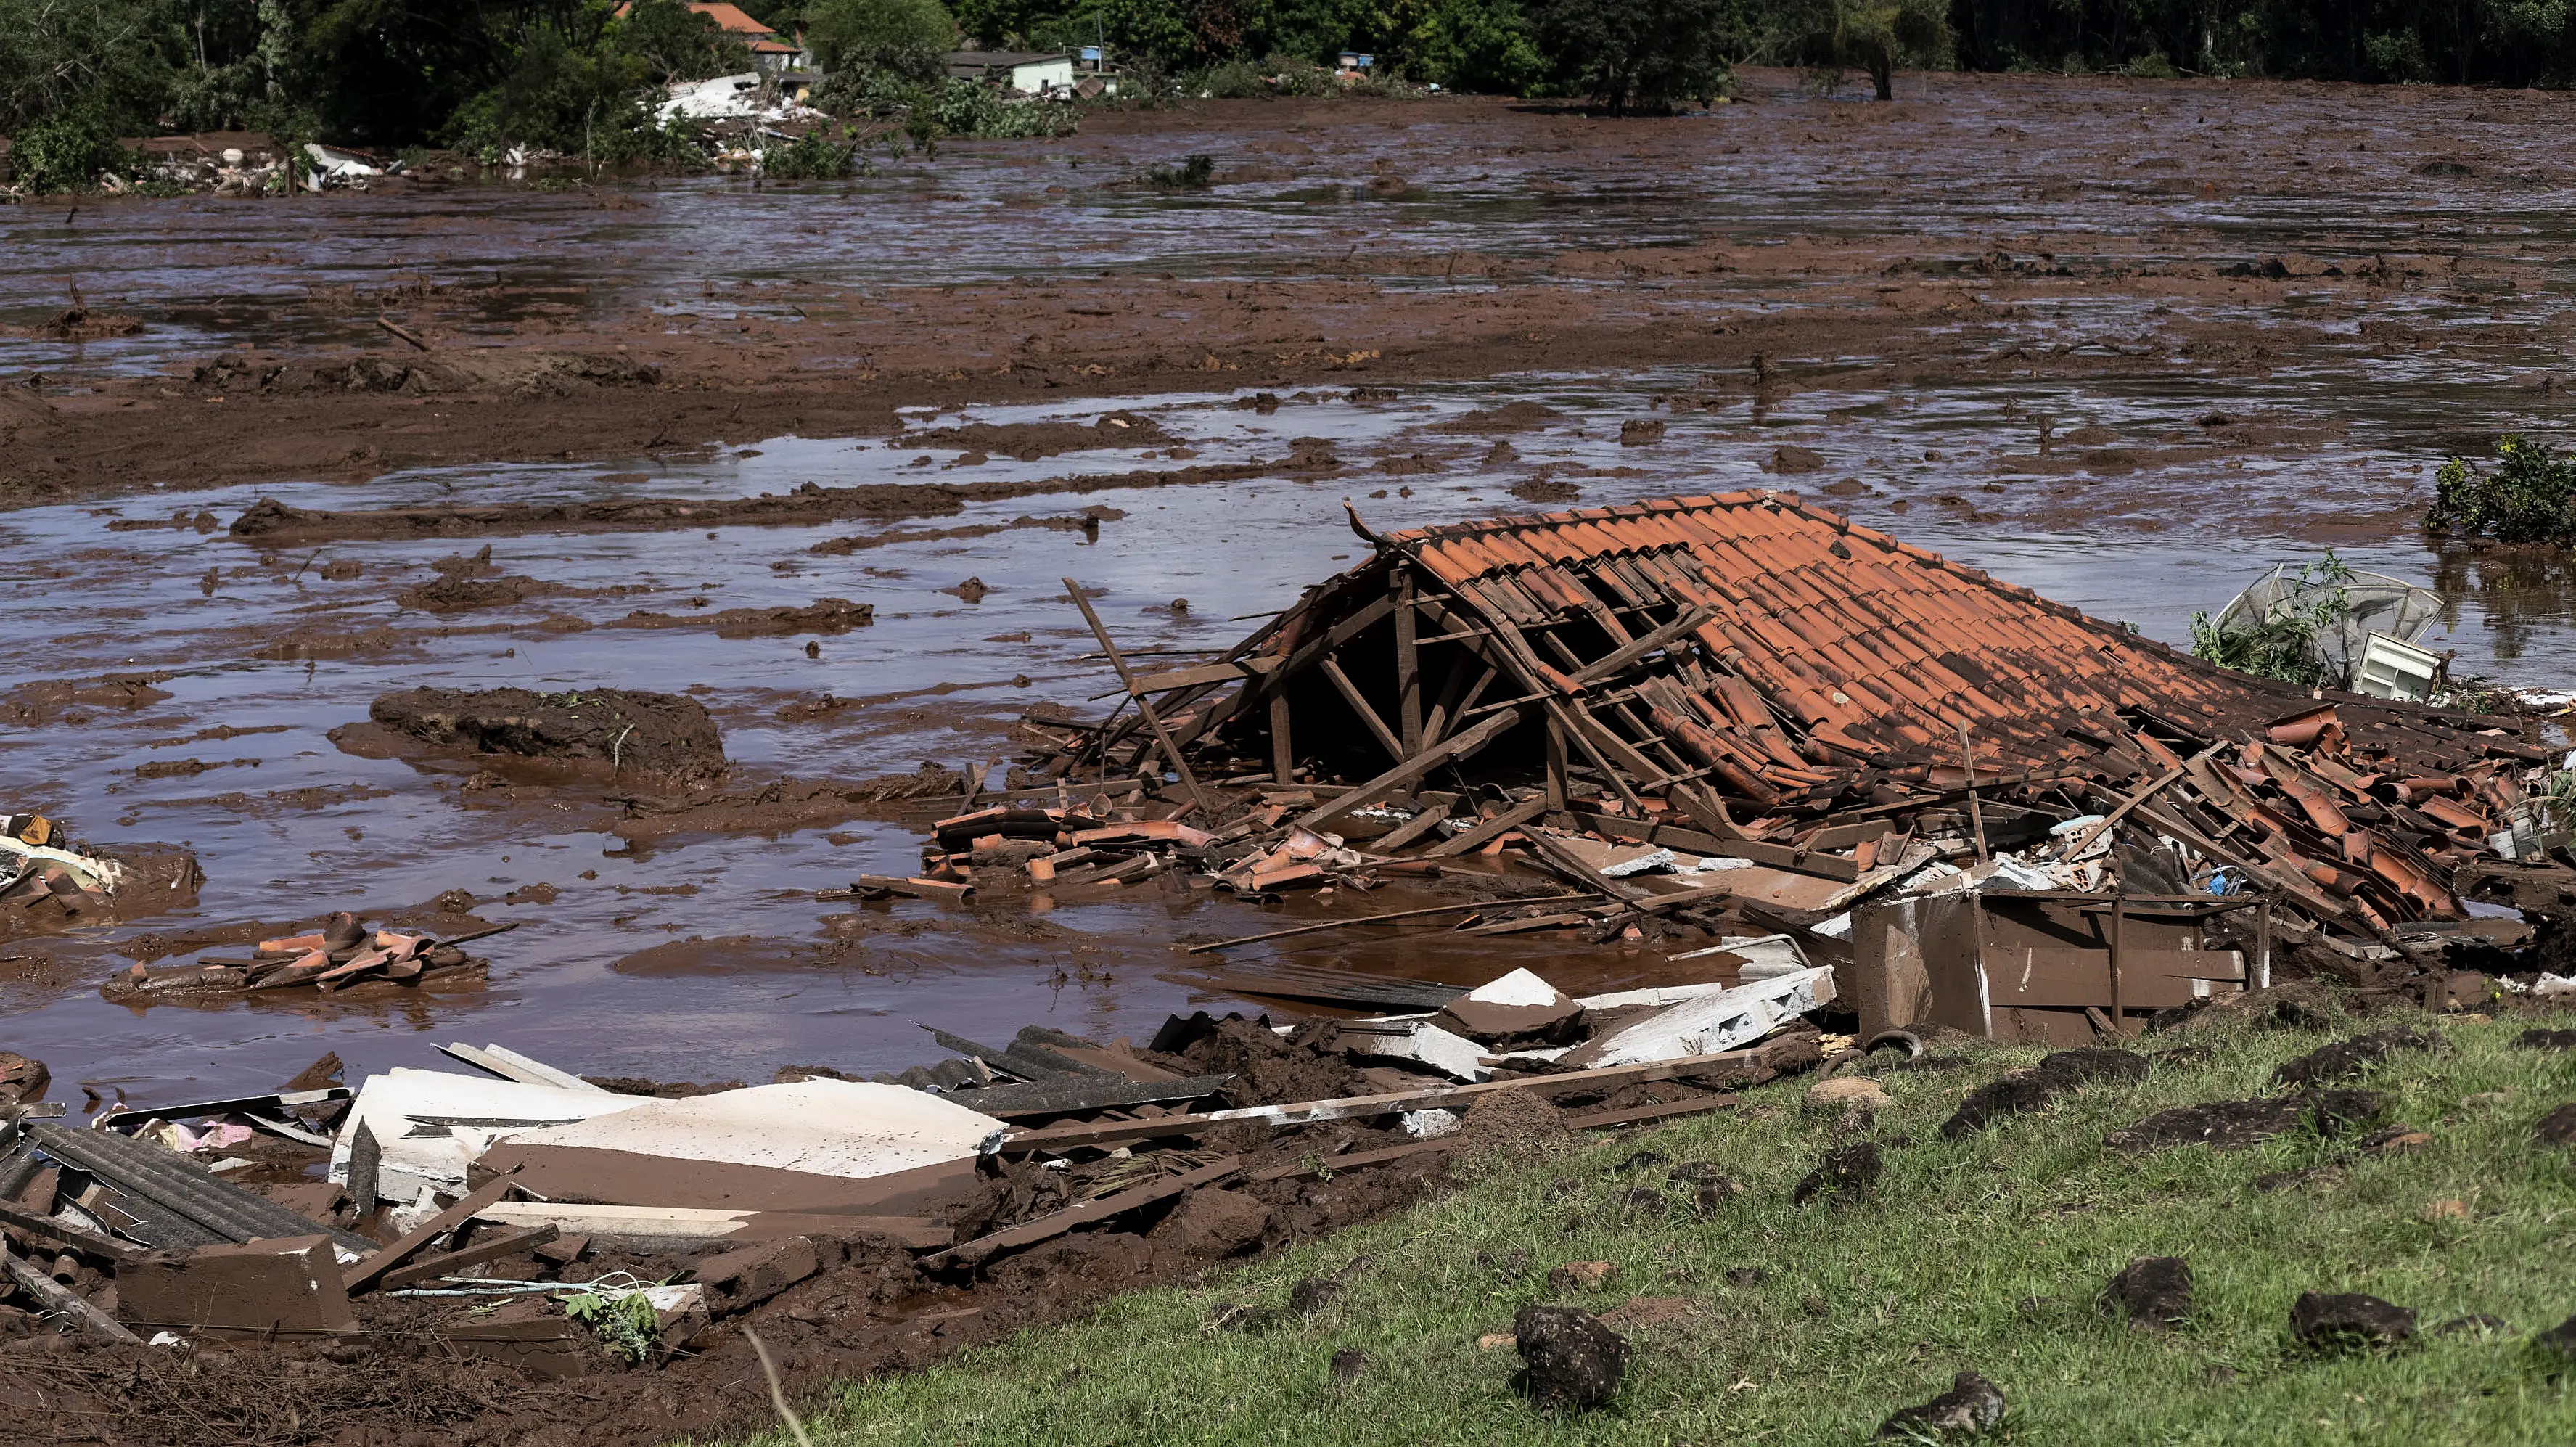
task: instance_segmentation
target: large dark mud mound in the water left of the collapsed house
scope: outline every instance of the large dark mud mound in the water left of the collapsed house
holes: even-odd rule
[[[368,718],[435,749],[598,760],[675,778],[724,772],[724,739],[706,705],[677,693],[531,693],[526,687],[386,693]]]

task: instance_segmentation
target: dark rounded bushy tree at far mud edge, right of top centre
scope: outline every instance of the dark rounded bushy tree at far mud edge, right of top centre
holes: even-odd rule
[[[1731,0],[1528,0],[1528,15],[1558,80],[1613,116],[1721,95],[1744,23]]]

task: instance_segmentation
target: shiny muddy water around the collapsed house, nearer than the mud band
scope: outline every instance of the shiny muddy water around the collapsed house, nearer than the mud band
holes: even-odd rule
[[[1061,906],[989,917],[935,904],[853,909],[811,891],[858,873],[904,870],[917,839],[884,824],[804,829],[781,837],[683,837],[629,850],[585,814],[580,826],[549,808],[492,806],[461,793],[466,765],[350,757],[330,731],[366,716],[379,693],[412,685],[580,690],[595,685],[696,690],[716,711],[726,749],[747,778],[868,778],[920,760],[963,762],[1007,752],[999,731],[1036,700],[1082,700],[1108,687],[1082,662],[1090,636],[1061,600],[1061,579],[1108,590],[1100,608],[1133,649],[1213,649],[1249,628],[1242,615],[1280,608],[1316,577],[1355,561],[1342,523],[1350,497],[1376,528],[1440,523],[1494,510],[1533,510],[1515,497],[1533,479],[1548,505],[1625,502],[1731,487],[1803,487],[1857,479],[1834,497],[1855,518],[1891,528],[1963,561],[2182,639],[2192,608],[2223,602],[2262,566],[2313,556],[2321,541],[2362,566],[2432,577],[2458,566],[2365,512],[2354,525],[2349,479],[2375,479],[2380,512],[2398,518],[2421,494],[2424,417],[2344,420],[2331,443],[2241,448],[2226,461],[2128,474],[2105,484],[2081,471],[2020,476],[2038,458],[2030,433],[2043,409],[2089,427],[2154,435],[2192,425],[2210,397],[2136,397],[2066,389],[1947,394],[1801,391],[1783,384],[1759,399],[1654,409],[1687,394],[1692,376],[1494,378],[1425,386],[1396,402],[1352,404],[1345,394],[1280,399],[1275,412],[1236,407],[1236,394],[1136,397],[1131,412],[1188,440],[1195,461],[1278,458],[1293,438],[1329,438],[1350,471],[1324,481],[1154,487],[979,505],[961,518],[886,528],[719,528],[714,533],[600,533],[495,538],[492,564],[564,592],[518,608],[433,618],[399,608],[399,587],[433,577],[453,546],[353,543],[258,554],[222,530],[103,533],[106,510],[52,507],[0,523],[8,577],[0,659],[10,677],[170,672],[173,698],[116,713],[88,708],[77,726],[15,731],[13,778],[98,839],[185,842],[209,886],[193,919],[137,922],[31,942],[8,953],[54,960],[52,981],[8,989],[10,1040],[39,1045],[64,1079],[137,1099],[255,1087],[322,1048],[361,1069],[428,1063],[440,1040],[502,1040],[585,1071],[662,1079],[760,1079],[781,1063],[899,1069],[935,1056],[917,1022],[963,1035],[1007,1035],[1043,1020],[1064,1030],[1149,1035],[1167,1009],[1218,996],[1157,978],[1177,937],[1224,937],[1275,917],[1213,901],[1149,893],[1131,904]],[[2280,397],[2295,384],[2277,381]],[[1705,394],[1716,397],[1716,394]],[[1533,430],[1461,435],[1440,430],[1476,407],[1538,402],[1556,417]],[[2275,397],[2233,391],[2231,407]],[[987,407],[935,417],[971,422],[1090,422],[1113,404]],[[2378,409],[2372,409],[2378,415]],[[1651,445],[1620,445],[1623,420],[1662,417]],[[933,422],[917,415],[917,422]],[[1507,440],[1515,461],[1489,461]],[[1826,463],[1798,479],[1765,474],[1780,443]],[[1919,461],[1922,453],[1942,461]],[[917,466],[927,456],[930,466]],[[1373,458],[1417,458],[1412,471],[1373,471]],[[1875,461],[1873,461],[1875,458]],[[1909,461],[1893,461],[1909,458]],[[1133,451],[1069,453],[1038,463],[987,461],[958,469],[956,451],[868,440],[778,438],[760,448],[670,466],[644,481],[595,469],[456,469],[394,474],[350,487],[273,487],[307,507],[611,497],[636,489],[739,497],[801,481],[827,487],[920,476],[1061,476],[1154,466]],[[2228,469],[2226,463],[2241,463]],[[2048,463],[2056,466],[2056,463]],[[1989,494],[1976,481],[2009,479]],[[2306,479],[2347,479],[2311,484]],[[2099,515],[2081,505],[2115,487]],[[2406,489],[2414,492],[2406,492]],[[2069,497],[2069,489],[2071,497]],[[206,510],[229,523],[255,492],[131,502],[126,518]],[[1973,499],[1945,505],[1942,497]],[[2251,502],[2251,499],[2259,499]],[[1097,538],[1020,528],[963,541],[891,541],[848,556],[809,548],[848,536],[1064,518],[1110,507]],[[353,579],[325,579],[335,561]],[[963,579],[989,592],[963,602]],[[2450,577],[2445,572],[2445,577]],[[2532,590],[2494,582],[2465,564],[2458,618],[2434,646],[2458,646],[2465,672],[2530,685],[2576,675],[2566,582]],[[618,592],[611,592],[618,590]],[[876,605],[876,623],[819,639],[716,639],[708,631],[608,628],[631,610],[804,605],[848,597]],[[1185,610],[1175,600],[1188,600]],[[386,651],[263,662],[291,628],[363,633],[392,628]],[[822,721],[788,724],[781,708],[819,695],[863,700]],[[234,736],[201,736],[229,726]],[[188,778],[139,778],[157,760],[209,765]],[[183,937],[191,924],[294,922],[325,909],[417,906],[461,888],[487,919],[523,927],[492,942],[487,989],[402,1004],[263,999],[260,1004],[124,1009],[95,984],[142,953],[139,937]],[[1401,906],[1388,896],[1386,904]],[[1332,901],[1301,901],[1309,914]],[[1347,909],[1347,906],[1345,906]],[[1303,942],[1303,958],[1399,973],[1455,973],[1455,960],[1412,942]],[[1551,958],[1548,945],[1520,953]],[[211,950],[224,955],[227,950]],[[1481,958],[1497,958],[1481,948]],[[1600,950],[1551,968],[1592,978],[1649,971],[1651,958]]]

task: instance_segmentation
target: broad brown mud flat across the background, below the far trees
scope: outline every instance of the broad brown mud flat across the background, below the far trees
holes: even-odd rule
[[[1777,72],[1749,72],[1747,93],[1754,103],[1669,121],[1471,98],[1200,103],[1090,116],[1079,136],[1046,147],[958,152],[1005,193],[1077,216],[1113,193],[1105,180],[1162,152],[1257,154],[1260,170],[1236,167],[1234,188],[1280,178],[1288,188],[1265,206],[1291,219],[1257,242],[1231,232],[1208,242],[1231,275],[1182,275],[1211,265],[1182,239],[1175,270],[1151,270],[1151,245],[1131,242],[1100,273],[1043,252],[1054,268],[994,275],[971,263],[935,286],[904,286],[902,270],[845,283],[814,268],[819,281],[783,296],[708,275],[703,296],[603,278],[538,299],[438,275],[422,257],[376,291],[265,299],[245,327],[330,345],[209,348],[173,355],[160,376],[44,368],[41,384],[0,397],[13,453],[0,481],[8,499],[36,502],[155,481],[639,458],[781,427],[894,435],[896,407],[917,404],[1638,358],[1734,373],[1739,389],[1852,368],[1880,381],[2251,376],[2424,350],[2519,371],[2563,335],[2561,319],[2532,327],[2522,312],[2555,286],[2566,237],[2537,219],[2499,232],[2473,221],[2519,221],[2568,185],[2563,95],[1922,75],[1906,77],[1899,103],[1873,106],[1803,100]],[[1355,167],[1378,180],[1440,175],[1352,188]],[[1051,175],[1061,185],[1046,185]],[[1718,214],[1677,227],[1643,206],[1628,245],[1613,245],[1613,224],[1566,247],[1579,216],[1548,219],[1566,211],[1569,178],[1613,203],[1695,191]],[[1803,232],[1777,227],[1759,203],[1767,188],[1806,193]],[[1731,221],[1739,193],[1754,203]],[[603,191],[585,203],[654,211],[675,206],[667,196]],[[925,224],[945,221],[948,191],[909,196]],[[1443,227],[1406,224],[1409,209],[1445,221],[1453,196],[1520,206],[1535,221],[1497,227],[1486,247],[1440,245]],[[296,206],[407,203],[422,201]],[[46,211],[23,209],[18,224],[41,227]],[[77,224],[100,221],[64,229]],[[2298,299],[2295,319],[2257,317],[2285,299]],[[2445,301],[2445,314],[2427,317],[2427,301]],[[191,322],[209,306],[232,317],[193,299],[167,306]],[[139,299],[126,309],[149,319]],[[2105,309],[2130,322],[2069,335]],[[376,312],[399,314],[430,350],[368,327]],[[1010,427],[933,435],[1005,456],[1074,440]],[[2069,435],[2061,451],[2043,427],[2035,456],[2120,466],[2107,443]]]

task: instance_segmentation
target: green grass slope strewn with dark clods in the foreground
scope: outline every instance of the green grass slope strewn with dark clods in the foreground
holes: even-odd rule
[[[2372,1020],[2372,1027],[2388,1020]],[[2215,1045],[2159,1063],[2146,1084],[2092,1087],[2045,1115],[1950,1143],[1958,1097],[2040,1050],[1976,1053],[1976,1069],[1880,1074],[1893,1105],[1875,1200],[1793,1208],[1790,1187],[1837,1143],[1808,1117],[1808,1081],[1749,1094],[1752,1110],[1587,1138],[1376,1226],[1177,1290],[1136,1293],[1082,1321],[1028,1331],[925,1372],[855,1383],[811,1424],[817,1442],[1865,1442],[1896,1406],[1973,1367],[2012,1403],[2002,1442],[2563,1444],[2576,1396],[2530,1344],[2576,1311],[2576,1172],[2532,1125],[2576,1099],[2576,1056],[2517,1050],[2535,1025],[2442,1020],[2452,1050],[2409,1053],[2360,1084],[2391,1123],[2434,1135],[2411,1153],[2352,1138],[2277,1138],[2120,1156],[2102,1135],[2151,1110],[2262,1094],[2272,1069],[2336,1035],[2228,1030],[2148,1038]],[[2473,1102],[2483,1092],[2506,1099]],[[1749,1190],[1708,1220],[1620,1223],[1633,1151],[1718,1161]],[[2262,1192],[2267,1172],[2336,1166],[2339,1184]],[[1571,1177],[1571,1197],[1551,1195]],[[1677,1200],[1687,1200],[1674,1187]],[[2463,1200],[2465,1220],[2427,1205]],[[1528,1269],[1481,1264],[1528,1254]],[[1280,1305],[1309,1272],[1373,1264],[1321,1313],[1267,1331],[1208,1331],[1221,1303]],[[2195,1318],[2172,1334],[2115,1323],[2102,1285],[2133,1256],[2192,1264]],[[1613,1259],[1607,1287],[1551,1298],[1561,1262]],[[1757,1285],[1731,1267],[1767,1269]],[[2396,1354],[2313,1357],[2290,1339],[2300,1290],[2370,1293],[2419,1311]],[[1605,1311],[1685,1295],[1695,1316],[1631,1331],[1620,1396],[1587,1416],[1533,1414],[1510,1388],[1525,1300]],[[2043,1298],[2025,1305],[2025,1298]],[[2434,1336],[2491,1313],[2499,1336]],[[1358,1380],[1329,1359],[1368,1354]]]

